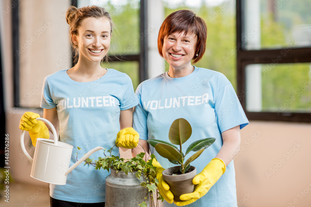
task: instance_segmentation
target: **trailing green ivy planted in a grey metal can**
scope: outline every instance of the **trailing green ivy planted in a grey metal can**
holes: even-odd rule
[[[78,150],[80,149],[78,147]],[[150,155],[150,159],[146,161],[143,159],[145,155],[143,152],[134,158],[124,159],[111,155],[111,151],[112,148],[107,151],[110,155],[106,155],[104,150],[105,156],[99,157],[98,160],[93,161],[90,158],[85,160],[85,165],[91,164],[98,170],[104,169],[108,172],[110,170],[110,175],[106,177],[106,198],[111,200],[108,202],[114,202],[110,205],[120,206],[122,205],[120,199],[123,199],[128,206],[147,207],[148,198],[153,201],[153,193],[156,193],[157,200],[163,200],[157,191],[156,167],[152,165],[152,160],[156,159],[155,155]],[[117,203],[115,196],[118,196]],[[156,205],[158,206],[157,201]]]

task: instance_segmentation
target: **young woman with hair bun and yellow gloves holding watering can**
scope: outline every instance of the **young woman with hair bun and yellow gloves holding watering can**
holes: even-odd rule
[[[109,149],[120,129],[132,127],[132,108],[138,104],[128,75],[100,65],[109,51],[113,22],[104,8],[96,6],[70,7],[66,16],[70,42],[79,57],[71,69],[44,79],[40,105],[43,118],[59,132],[60,141],[74,149]],[[21,129],[29,131],[34,144],[38,137],[49,138],[47,127],[37,117],[38,114],[26,112],[20,123]],[[133,142],[127,140],[119,146],[132,148]],[[118,154],[118,147],[112,154]],[[103,151],[97,151],[92,156],[102,155]],[[70,166],[75,162],[73,150]],[[66,185],[50,184],[51,206],[104,206],[106,176],[108,172],[79,165],[68,174]]]

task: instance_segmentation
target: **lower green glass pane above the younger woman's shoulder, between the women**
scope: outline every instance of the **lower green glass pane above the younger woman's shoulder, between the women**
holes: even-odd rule
[[[138,61],[117,61],[110,63],[103,63],[102,67],[104,68],[113,68],[122,73],[128,74],[132,79],[134,91],[136,90],[139,84],[139,62]]]

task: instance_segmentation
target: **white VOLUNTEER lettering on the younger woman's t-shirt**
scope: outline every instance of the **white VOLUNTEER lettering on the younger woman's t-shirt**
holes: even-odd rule
[[[116,106],[116,99],[113,96],[96,96],[96,97],[73,97],[63,98],[58,101],[60,110],[66,108],[80,107],[103,107]]]

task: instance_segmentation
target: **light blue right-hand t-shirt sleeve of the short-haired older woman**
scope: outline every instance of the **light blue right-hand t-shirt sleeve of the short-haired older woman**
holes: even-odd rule
[[[242,129],[248,124],[248,119],[230,82],[217,93],[215,113],[221,133],[235,126],[240,126]]]

